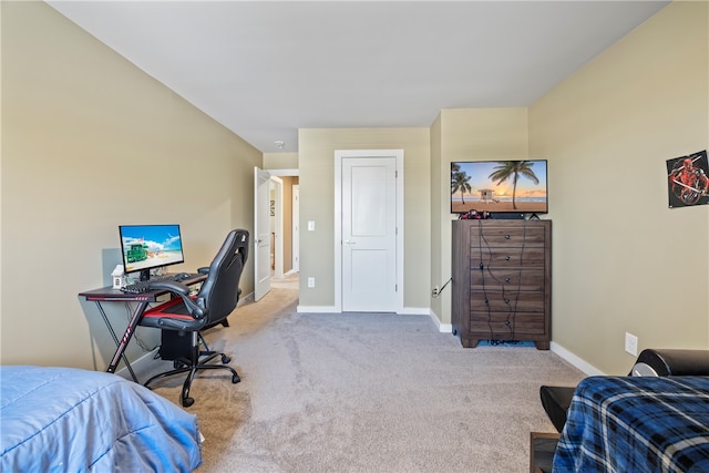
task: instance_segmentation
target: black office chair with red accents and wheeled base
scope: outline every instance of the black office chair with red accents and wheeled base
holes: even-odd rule
[[[209,265],[202,268],[207,278],[195,297],[189,296],[189,288],[179,282],[151,282],[151,289],[167,290],[173,298],[167,302],[151,308],[143,313],[141,326],[154,327],[163,330],[175,330],[181,335],[192,337],[189,358],[175,361],[175,369],[156,374],[145,382],[145,387],[160,378],[188,372],[182,388],[179,400],[188,408],[195,401],[189,397],[192,380],[198,370],[223,369],[232,372],[232,382],[240,381],[238,373],[226,366],[229,357],[215,351],[201,351],[199,330],[212,327],[232,313],[239,299],[239,278],[248,258],[248,232],[232,230],[222,245],[219,253]],[[220,357],[223,364],[207,364],[214,358]]]

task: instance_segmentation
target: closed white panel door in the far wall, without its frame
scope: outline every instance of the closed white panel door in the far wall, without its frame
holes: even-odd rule
[[[397,310],[397,161],[342,160],[342,311]]]

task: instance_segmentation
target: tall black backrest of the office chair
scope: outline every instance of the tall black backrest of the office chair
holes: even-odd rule
[[[207,279],[197,294],[197,305],[207,309],[206,323],[225,319],[239,300],[239,279],[248,258],[248,232],[229,232],[209,265]]]

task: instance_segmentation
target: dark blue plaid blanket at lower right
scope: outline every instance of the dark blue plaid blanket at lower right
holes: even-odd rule
[[[586,378],[553,472],[709,472],[709,377]]]

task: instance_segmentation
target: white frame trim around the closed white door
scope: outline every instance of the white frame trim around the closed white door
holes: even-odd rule
[[[403,150],[335,150],[335,310],[342,312],[342,160],[388,157],[397,163],[397,313],[403,312]]]

